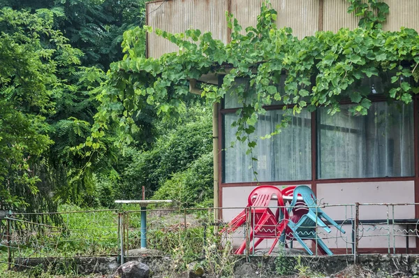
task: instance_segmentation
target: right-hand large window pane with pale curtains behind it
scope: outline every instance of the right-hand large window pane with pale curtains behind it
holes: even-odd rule
[[[318,178],[414,175],[413,105],[375,102],[368,115],[318,109]]]

